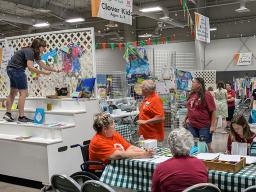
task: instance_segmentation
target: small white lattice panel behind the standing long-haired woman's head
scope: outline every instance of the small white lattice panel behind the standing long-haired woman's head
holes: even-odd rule
[[[202,70],[202,71],[192,71],[192,76],[202,77],[205,81],[205,88],[212,87],[216,89],[216,71],[215,70]]]

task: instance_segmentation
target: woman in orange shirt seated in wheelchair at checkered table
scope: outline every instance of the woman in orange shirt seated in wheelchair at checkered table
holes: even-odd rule
[[[152,150],[142,150],[128,143],[115,131],[113,118],[107,113],[94,116],[93,128],[97,132],[89,146],[89,160],[108,163],[109,160],[125,158],[150,158]]]

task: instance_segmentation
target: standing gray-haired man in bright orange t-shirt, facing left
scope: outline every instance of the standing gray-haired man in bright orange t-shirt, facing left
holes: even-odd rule
[[[152,80],[142,83],[143,101],[140,105],[139,134],[144,139],[164,140],[164,109],[163,102],[155,92],[156,85]]]

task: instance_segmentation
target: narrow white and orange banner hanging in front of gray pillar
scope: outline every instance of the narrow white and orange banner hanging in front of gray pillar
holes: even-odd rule
[[[195,25],[196,25],[196,39],[210,43],[210,21],[208,17],[205,17],[195,12]]]

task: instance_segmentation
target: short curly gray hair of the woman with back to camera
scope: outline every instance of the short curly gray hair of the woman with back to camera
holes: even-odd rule
[[[179,128],[169,134],[168,143],[173,156],[187,156],[194,145],[194,139],[188,130]]]

